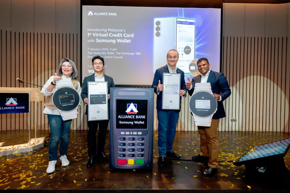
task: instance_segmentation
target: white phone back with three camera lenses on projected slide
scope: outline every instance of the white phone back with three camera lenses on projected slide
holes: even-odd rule
[[[155,18],[153,33],[153,72],[155,72],[156,69],[167,64],[166,54],[168,50],[175,49],[176,18]]]

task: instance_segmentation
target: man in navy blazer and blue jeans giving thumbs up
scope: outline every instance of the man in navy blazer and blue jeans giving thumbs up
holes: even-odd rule
[[[176,67],[178,61],[178,52],[171,49],[167,52],[167,65],[156,70],[152,83],[152,88],[157,94],[156,109],[158,119],[158,166],[165,166],[165,157],[180,158],[173,151],[173,140],[176,133],[176,124],[179,118],[181,96],[186,97],[186,85],[184,81],[184,72]],[[162,94],[163,94],[163,73],[180,73],[180,91],[179,91],[179,110],[164,110],[162,109]]]

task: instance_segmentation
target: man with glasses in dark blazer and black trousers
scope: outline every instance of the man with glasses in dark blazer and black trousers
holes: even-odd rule
[[[81,98],[84,100],[85,104],[88,104],[88,82],[108,82],[108,100],[110,99],[110,87],[115,87],[113,78],[103,73],[105,68],[104,58],[101,56],[94,56],[92,63],[95,73],[85,77],[82,85]],[[108,105],[109,104],[110,102],[108,101]],[[110,106],[108,106],[108,114],[110,119]],[[86,106],[86,115],[88,115],[88,106]],[[96,158],[103,158],[106,160],[109,159],[104,152],[108,123],[109,120],[88,121],[88,156],[90,159],[88,160],[87,168],[90,168],[94,165]],[[97,148],[96,133],[98,126],[99,134]]]

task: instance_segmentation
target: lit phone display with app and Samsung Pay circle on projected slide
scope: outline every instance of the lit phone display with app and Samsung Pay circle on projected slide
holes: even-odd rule
[[[195,59],[195,19],[176,18],[176,50],[179,52],[177,67],[191,73],[190,64]]]

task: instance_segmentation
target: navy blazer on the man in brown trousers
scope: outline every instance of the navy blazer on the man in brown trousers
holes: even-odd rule
[[[201,75],[192,78],[192,89],[188,91],[189,95],[192,95],[195,83],[200,83],[200,81]],[[222,102],[231,95],[231,89],[229,87],[228,81],[226,80],[226,77],[224,76],[224,73],[211,70],[209,72],[209,78],[207,79],[207,82],[211,83],[211,91],[214,94],[219,94],[222,96],[222,101],[218,101],[218,110],[213,115],[213,119],[226,117],[226,113],[224,112],[224,105]]]

